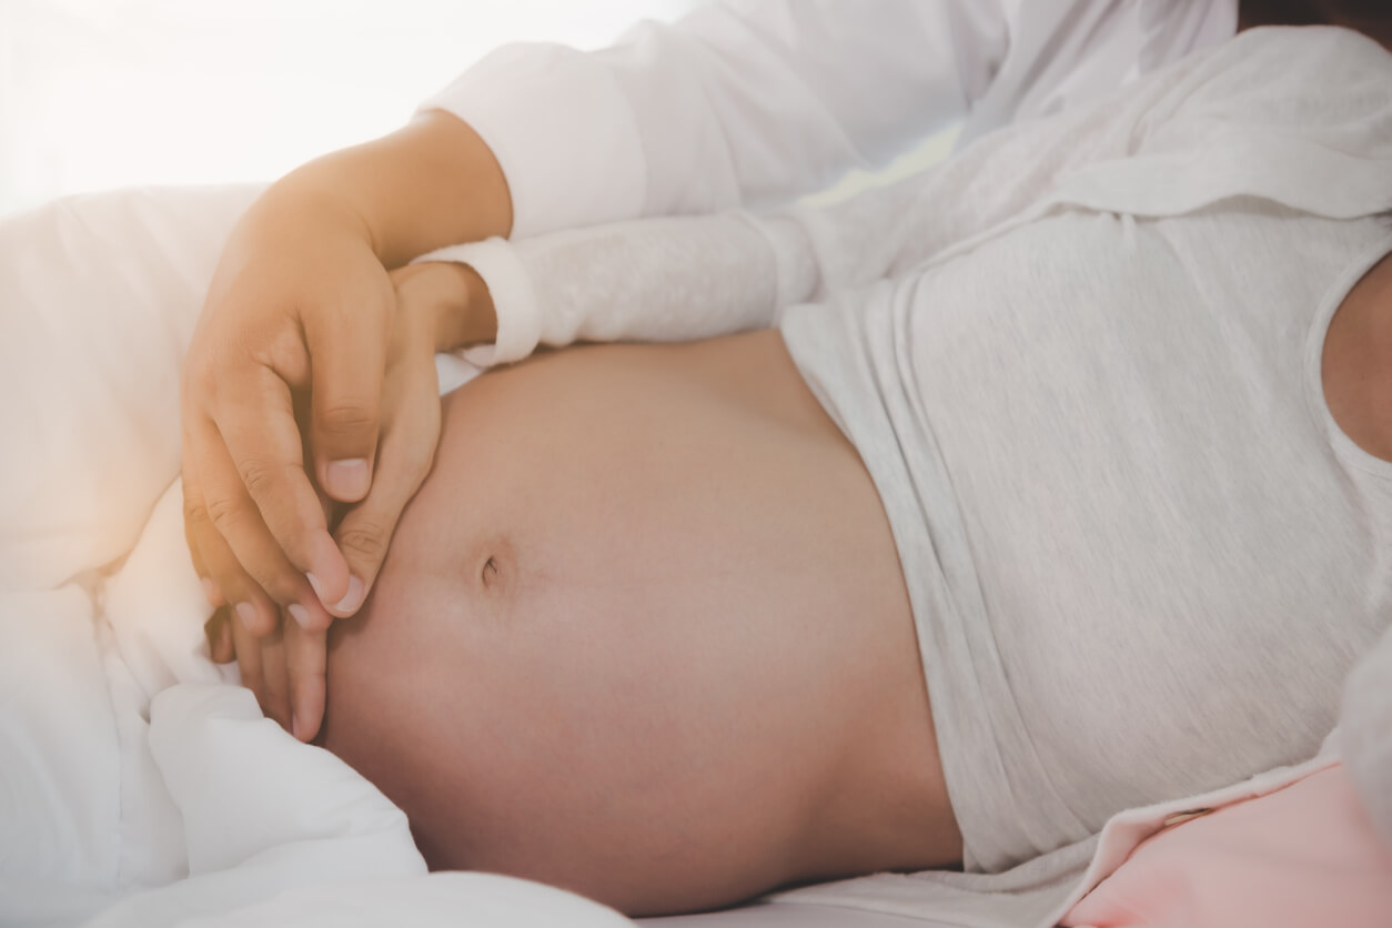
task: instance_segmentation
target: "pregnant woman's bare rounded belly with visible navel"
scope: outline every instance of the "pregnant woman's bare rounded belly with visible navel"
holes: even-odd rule
[[[959,860],[888,520],[777,333],[546,355],[443,419],[322,735],[433,868],[658,914]]]

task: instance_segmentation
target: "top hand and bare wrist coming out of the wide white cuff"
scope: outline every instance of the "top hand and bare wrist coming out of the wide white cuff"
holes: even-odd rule
[[[365,501],[386,451],[387,267],[509,223],[487,146],[458,120],[427,114],[298,168],[232,230],[184,366],[184,477],[199,573],[216,577],[220,594],[210,598],[237,607],[249,627],[274,627],[277,605],[299,607],[296,618],[322,626],[326,608],[352,614],[366,594],[379,552],[345,561],[312,480],[331,499]],[[302,401],[312,461],[295,415]],[[348,529],[365,520],[376,534],[394,523],[390,511],[419,476],[388,470],[381,498]]]

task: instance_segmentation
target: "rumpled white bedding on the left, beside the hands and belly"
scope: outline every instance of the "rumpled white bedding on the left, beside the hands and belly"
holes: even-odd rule
[[[0,223],[0,925],[632,924],[539,883],[427,874],[400,810],[207,659],[178,370],[256,189]],[[658,921],[910,924],[799,904]]]

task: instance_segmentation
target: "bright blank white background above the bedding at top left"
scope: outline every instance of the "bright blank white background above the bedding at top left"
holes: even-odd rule
[[[263,181],[404,124],[489,50],[597,47],[699,0],[0,0],[0,214]]]

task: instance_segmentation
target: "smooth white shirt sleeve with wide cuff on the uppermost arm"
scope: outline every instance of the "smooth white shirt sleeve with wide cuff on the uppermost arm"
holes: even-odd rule
[[[965,114],[1004,0],[725,0],[610,49],[507,46],[422,109],[497,156],[512,237],[711,213],[824,186]]]

